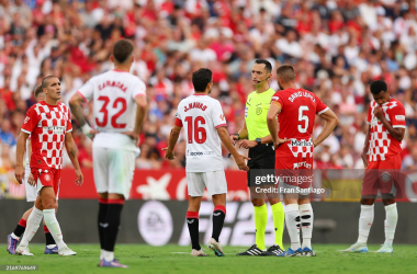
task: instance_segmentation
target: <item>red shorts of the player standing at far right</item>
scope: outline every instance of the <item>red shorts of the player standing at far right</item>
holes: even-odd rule
[[[399,155],[386,158],[385,161],[370,161],[362,182],[362,196],[375,196],[379,190],[381,194],[395,196],[397,193],[395,184],[402,180],[401,165]]]

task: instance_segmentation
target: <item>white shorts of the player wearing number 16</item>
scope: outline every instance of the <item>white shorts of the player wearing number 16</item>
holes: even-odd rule
[[[224,170],[207,172],[187,172],[187,185],[191,197],[200,197],[204,189],[211,196],[227,193],[227,182]]]

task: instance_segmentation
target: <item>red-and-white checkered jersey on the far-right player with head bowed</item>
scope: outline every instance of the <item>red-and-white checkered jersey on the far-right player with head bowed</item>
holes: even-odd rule
[[[395,139],[379,118],[373,115],[373,110],[377,106],[375,101],[372,101],[368,111],[368,124],[370,124],[369,135],[369,161],[385,161],[387,157],[395,156],[401,152],[401,141]],[[405,128],[405,109],[403,104],[391,99],[383,105],[380,105],[385,118],[394,127]]]

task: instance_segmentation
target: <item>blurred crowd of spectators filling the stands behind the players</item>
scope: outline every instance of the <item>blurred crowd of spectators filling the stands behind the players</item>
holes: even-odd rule
[[[67,103],[89,78],[112,69],[112,45],[125,37],[136,46],[132,73],[147,83],[150,105],[138,169],[184,167],[184,141],[177,145],[174,161],[166,161],[161,149],[178,103],[193,93],[191,75],[201,67],[213,71],[211,95],[222,102],[228,132],[236,133],[253,91],[256,58],[268,59],[273,69],[293,65],[298,85],[339,117],[335,133],[315,149],[316,168],[363,168],[369,84],[384,79],[406,110],[403,168],[415,169],[416,16],[414,1],[405,0],[0,0],[0,167],[15,164],[34,87],[57,76]],[[275,78],[270,84],[279,89]],[[86,113],[91,107],[86,104]],[[320,123],[317,118],[315,134]],[[80,163],[90,168],[91,141],[74,124]],[[236,169],[227,153],[225,165]],[[65,162],[70,167],[68,158]]]

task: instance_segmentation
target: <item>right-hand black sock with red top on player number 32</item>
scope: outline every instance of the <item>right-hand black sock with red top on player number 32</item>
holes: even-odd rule
[[[103,258],[110,262],[114,260],[114,246],[121,225],[122,209],[124,199],[108,199],[108,210],[105,222],[103,224]]]

